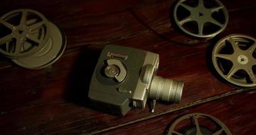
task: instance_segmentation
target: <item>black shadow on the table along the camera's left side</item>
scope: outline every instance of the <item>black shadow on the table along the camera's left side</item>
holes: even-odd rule
[[[91,76],[95,69],[101,50],[99,49],[80,49],[65,90],[65,99],[85,107],[90,107],[88,100],[88,90]],[[91,108],[91,107],[90,107]]]

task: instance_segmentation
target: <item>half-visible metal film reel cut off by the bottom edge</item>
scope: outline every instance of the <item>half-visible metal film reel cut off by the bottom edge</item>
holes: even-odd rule
[[[181,124],[181,125],[180,125]],[[180,128],[180,129],[179,129]],[[178,129],[178,130],[177,130]],[[204,113],[184,115],[172,124],[168,135],[231,135],[230,130],[219,119]]]

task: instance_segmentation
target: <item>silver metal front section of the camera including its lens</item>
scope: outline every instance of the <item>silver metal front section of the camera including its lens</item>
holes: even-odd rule
[[[136,90],[132,96],[133,107],[144,109],[147,99],[180,103],[184,82],[155,76],[159,66],[159,55],[147,52],[143,68],[140,72]]]

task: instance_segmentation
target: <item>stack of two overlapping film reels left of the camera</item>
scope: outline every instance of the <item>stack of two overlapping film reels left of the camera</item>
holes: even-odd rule
[[[66,48],[66,36],[59,27],[32,9],[3,15],[0,30],[0,53],[23,68],[45,68]]]

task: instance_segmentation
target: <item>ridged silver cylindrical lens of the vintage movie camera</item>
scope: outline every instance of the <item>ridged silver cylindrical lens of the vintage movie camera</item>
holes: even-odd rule
[[[180,103],[184,83],[160,76],[154,76],[149,91],[149,99]]]

